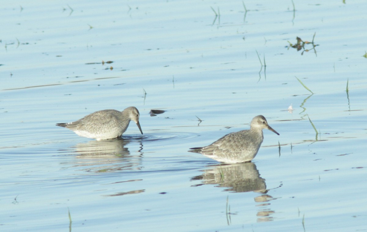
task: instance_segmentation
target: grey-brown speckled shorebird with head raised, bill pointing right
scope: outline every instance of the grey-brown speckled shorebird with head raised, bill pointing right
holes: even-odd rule
[[[268,125],[264,116],[258,115],[251,120],[250,130],[229,133],[208,146],[190,148],[192,150],[189,152],[201,153],[223,163],[250,162],[264,140],[262,129],[271,130],[279,135]]]

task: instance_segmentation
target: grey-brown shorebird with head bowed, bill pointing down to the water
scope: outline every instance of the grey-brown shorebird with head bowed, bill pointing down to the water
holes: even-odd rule
[[[134,106],[123,111],[99,110],[75,122],[57,123],[56,126],[66,127],[82,137],[102,140],[120,137],[126,131],[130,121],[134,121],[143,134],[139,123],[139,111]]]

